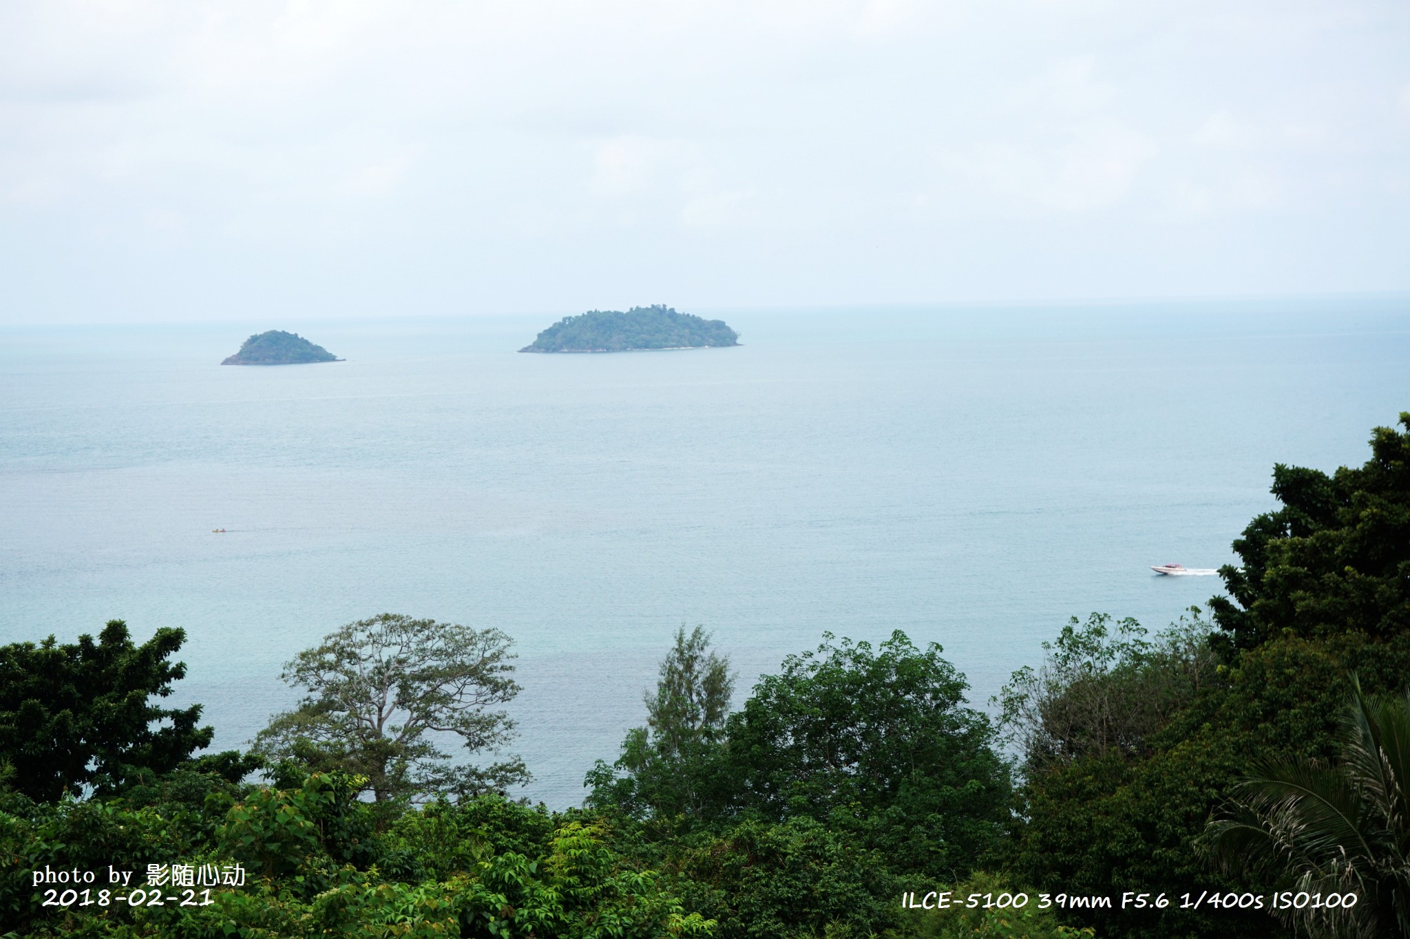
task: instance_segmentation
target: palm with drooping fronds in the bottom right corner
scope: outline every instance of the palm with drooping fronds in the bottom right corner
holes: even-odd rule
[[[1351,908],[1286,909],[1308,936],[1410,938],[1410,691],[1354,683],[1337,764],[1269,760],[1238,787],[1204,845],[1225,870],[1256,870]]]

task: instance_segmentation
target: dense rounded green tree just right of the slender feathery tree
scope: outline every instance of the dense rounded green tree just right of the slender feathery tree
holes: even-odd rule
[[[737,805],[808,817],[881,849],[895,870],[963,876],[1000,839],[1008,767],[964,679],[897,631],[876,650],[823,634],[730,715]]]

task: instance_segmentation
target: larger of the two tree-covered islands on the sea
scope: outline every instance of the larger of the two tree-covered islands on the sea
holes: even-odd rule
[[[520,352],[636,352],[739,345],[723,320],[702,320],[671,307],[589,310],[564,317]]]

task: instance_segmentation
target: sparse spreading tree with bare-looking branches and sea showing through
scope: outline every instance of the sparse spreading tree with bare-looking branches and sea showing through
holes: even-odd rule
[[[529,780],[519,757],[454,763],[436,741],[455,735],[467,753],[498,750],[513,721],[491,710],[519,693],[512,641],[499,629],[382,614],[350,622],[285,664],[285,683],[307,697],[254,741],[271,762],[367,777],[376,801],[453,797]]]

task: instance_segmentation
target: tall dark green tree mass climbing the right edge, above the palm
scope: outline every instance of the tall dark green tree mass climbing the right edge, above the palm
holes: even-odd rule
[[[1402,424],[1410,431],[1410,418],[1402,417]],[[1255,518],[1235,542],[1242,569],[1221,572],[1232,600],[1210,603],[1220,626],[1210,641],[1218,667],[1210,674],[1197,646],[1189,652],[1198,657],[1184,656],[1186,673],[1207,676],[1189,702],[1167,712],[1163,726],[1156,721],[1141,728],[1135,746],[1103,746],[1103,739],[1120,738],[1091,733],[1081,721],[1065,731],[1062,721],[1052,721],[1035,738],[1043,748],[1028,755],[1011,860],[1022,880],[1077,893],[1155,883],[1175,895],[1268,888],[1266,877],[1239,866],[1211,870],[1198,839],[1238,791],[1251,762],[1335,759],[1348,672],[1359,673],[1371,693],[1404,688],[1407,467],[1410,434],[1378,428],[1363,466],[1332,474],[1275,469],[1282,507]],[[1124,687],[1139,693],[1151,680],[1163,686],[1159,673],[1167,672],[1159,659],[1142,659],[1134,656],[1135,667],[1114,669],[1114,676],[1087,679],[1074,670],[1073,694],[1063,686],[1052,700],[1065,707],[1091,702],[1100,697],[1091,691],[1101,691],[1132,701]],[[1089,922],[1111,939],[1286,935],[1275,919],[1252,911],[1094,911]]]

